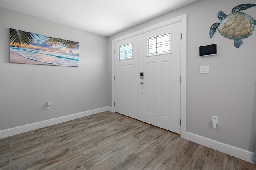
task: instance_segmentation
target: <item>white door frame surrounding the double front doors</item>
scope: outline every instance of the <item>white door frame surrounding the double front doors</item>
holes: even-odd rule
[[[182,33],[182,40],[181,40],[181,69],[180,69],[180,75],[182,77],[182,81],[180,84],[180,119],[181,119],[181,126],[180,126],[180,137],[186,139],[186,90],[187,90],[187,14],[183,14],[180,16],[177,16],[175,18],[172,18],[170,20],[166,20],[164,22],[160,22],[158,24],[154,24],[152,26],[146,27],[144,29],[138,30],[136,32],[132,32],[130,34],[121,36],[119,38],[116,38],[112,40],[112,112],[115,112],[115,84],[114,84],[114,66],[115,66],[115,60],[114,60],[114,43],[126,38],[130,38],[132,36],[136,36],[139,34],[142,34],[144,32],[154,30],[156,28],[160,28],[162,26],[166,26],[169,24],[173,24],[175,22],[181,22],[181,33]]]

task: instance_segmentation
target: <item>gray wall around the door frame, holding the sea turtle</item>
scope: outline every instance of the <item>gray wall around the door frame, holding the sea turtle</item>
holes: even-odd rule
[[[255,1],[197,1],[144,22],[108,38],[108,83],[111,84],[112,40],[170,18],[188,14],[187,21],[187,122],[188,132],[254,152],[256,147],[256,28],[240,48],[218,30],[211,39],[210,26],[218,11]],[[256,20],[256,7],[241,11]],[[198,46],[218,44],[218,55],[199,57]],[[209,65],[209,74],[199,74],[200,65]],[[111,86],[108,87],[111,96]],[[111,106],[111,100],[108,100]],[[218,116],[212,128],[211,116]]]

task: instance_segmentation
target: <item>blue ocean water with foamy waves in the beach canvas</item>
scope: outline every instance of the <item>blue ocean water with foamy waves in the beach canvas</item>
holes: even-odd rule
[[[79,64],[78,55],[73,55],[72,51],[70,52],[71,54],[65,54],[60,52],[10,46],[10,52],[17,53],[30,60],[54,64],[57,66],[78,66]]]

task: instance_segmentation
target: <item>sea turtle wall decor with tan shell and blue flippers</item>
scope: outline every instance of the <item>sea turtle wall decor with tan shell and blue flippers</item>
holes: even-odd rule
[[[239,12],[247,8],[256,6],[255,4],[241,4],[232,9],[232,13],[225,15],[224,12],[218,12],[220,23],[212,24],[210,28],[210,38],[218,28],[220,34],[226,38],[234,39],[234,46],[238,48],[243,42],[243,38],[247,38],[252,34],[256,20],[253,20],[248,14]]]

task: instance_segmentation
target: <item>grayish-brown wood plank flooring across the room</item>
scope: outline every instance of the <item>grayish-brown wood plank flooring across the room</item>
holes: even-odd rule
[[[256,170],[256,165],[102,112],[0,140],[1,170]]]

